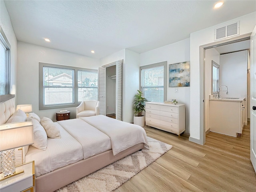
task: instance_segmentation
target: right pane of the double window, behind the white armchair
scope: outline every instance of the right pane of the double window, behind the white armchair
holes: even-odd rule
[[[98,72],[78,70],[78,102],[98,100]]]

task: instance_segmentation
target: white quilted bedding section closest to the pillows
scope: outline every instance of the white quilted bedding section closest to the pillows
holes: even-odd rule
[[[30,145],[26,154],[26,162],[35,161],[36,177],[83,159],[81,144],[58,122],[54,124],[60,130],[61,138],[48,138],[45,151]]]

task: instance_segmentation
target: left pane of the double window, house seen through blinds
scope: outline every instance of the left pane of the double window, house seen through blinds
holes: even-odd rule
[[[43,106],[74,103],[74,71],[43,66]]]

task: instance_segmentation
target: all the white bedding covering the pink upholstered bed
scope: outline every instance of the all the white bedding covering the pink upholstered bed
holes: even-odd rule
[[[113,154],[144,143],[145,130],[137,125],[103,115],[55,122],[61,138],[48,138],[46,150],[29,147],[26,162],[35,161],[36,176],[100,154],[112,148]]]

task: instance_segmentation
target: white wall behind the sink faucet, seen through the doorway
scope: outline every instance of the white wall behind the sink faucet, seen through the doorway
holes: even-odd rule
[[[247,50],[220,56],[220,85],[228,86],[228,95],[220,97],[244,97],[247,95]],[[226,90],[222,86],[220,90]]]

